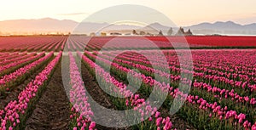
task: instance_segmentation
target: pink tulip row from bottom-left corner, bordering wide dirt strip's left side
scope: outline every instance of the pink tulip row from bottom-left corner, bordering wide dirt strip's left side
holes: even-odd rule
[[[27,84],[26,88],[20,92],[17,99],[10,101],[3,110],[0,110],[1,130],[24,128],[26,118],[32,111],[32,105],[37,102],[47,82],[49,82],[49,77],[55,70],[55,66],[59,63],[61,54],[62,52],[60,52],[32,82]]]

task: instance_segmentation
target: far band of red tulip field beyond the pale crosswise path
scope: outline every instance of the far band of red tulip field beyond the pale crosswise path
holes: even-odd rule
[[[116,37],[79,37],[79,36],[59,36],[59,37],[0,37],[0,52],[50,52],[61,51],[67,42],[69,50],[84,49],[88,51],[100,50],[102,47],[111,42]],[[121,37],[117,39],[118,46],[115,44],[109,45],[107,50],[122,50],[122,49],[155,49],[154,46],[146,46],[137,44],[136,42],[118,42],[139,40],[141,42],[154,42],[158,48],[170,49],[172,43],[187,42],[190,48],[256,48],[256,37]],[[115,43],[115,42],[113,42]],[[133,48],[131,48],[133,47]],[[183,48],[179,46],[177,48]]]

